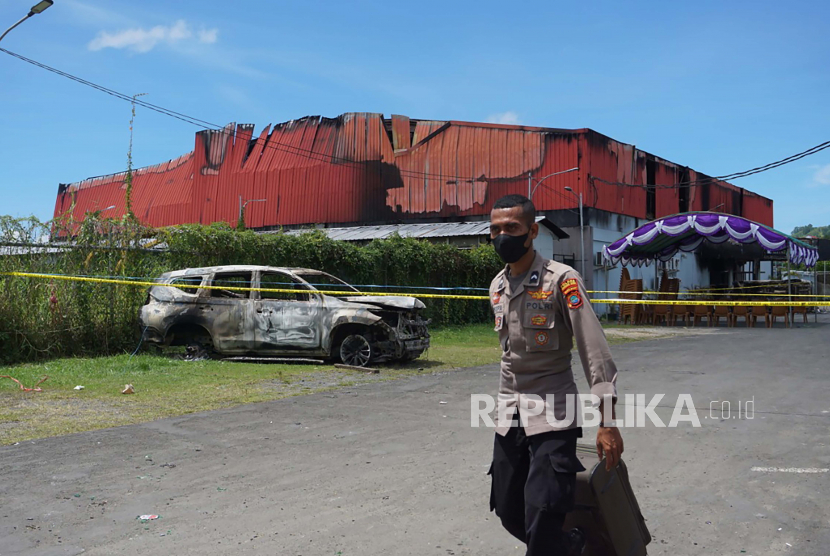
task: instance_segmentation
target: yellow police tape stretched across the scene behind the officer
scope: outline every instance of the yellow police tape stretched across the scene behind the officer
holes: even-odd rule
[[[169,287],[177,289],[206,289],[206,290],[225,290],[225,291],[240,291],[240,292],[267,292],[267,293],[298,293],[299,290],[290,288],[246,288],[241,286],[202,286],[202,285],[188,285],[188,284],[162,284],[159,282],[150,282],[146,280],[119,280],[117,278],[92,278],[88,276],[63,276],[59,274],[40,274],[36,272],[0,272],[0,276],[17,276],[21,278],[41,278],[46,280],[63,280],[69,282],[92,282],[98,284],[117,284],[126,286],[143,286],[143,287]],[[336,290],[313,290],[314,293],[321,293],[325,295],[341,295],[341,296],[372,296],[372,297],[419,297],[424,299],[466,299],[471,301],[489,300],[487,295],[456,295],[456,294],[441,294],[441,293],[390,293],[390,292],[357,292],[357,291],[336,291]],[[589,292],[589,293],[626,293],[633,292]],[[665,292],[655,292],[665,293]],[[783,297],[783,296],[778,296]],[[815,297],[815,296],[811,296]],[[708,306],[726,306],[726,307],[830,307],[830,301],[718,301],[718,300],[677,300],[671,301],[667,299],[591,299],[591,303],[605,303],[605,304],[628,304],[628,305],[708,305]]]

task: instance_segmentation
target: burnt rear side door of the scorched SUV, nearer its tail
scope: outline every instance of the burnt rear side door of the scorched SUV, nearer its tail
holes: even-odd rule
[[[253,303],[250,288],[253,273],[248,271],[216,272],[205,288],[200,310],[210,323],[213,344],[220,353],[243,352],[254,347]]]

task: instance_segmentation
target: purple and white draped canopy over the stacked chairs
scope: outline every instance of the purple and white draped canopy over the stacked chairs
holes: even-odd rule
[[[768,226],[716,212],[687,212],[643,224],[602,248],[603,257],[613,264],[641,266],[653,259],[666,261],[678,251],[694,251],[703,241],[758,243],[768,253],[787,250],[790,262],[812,267],[818,250]]]

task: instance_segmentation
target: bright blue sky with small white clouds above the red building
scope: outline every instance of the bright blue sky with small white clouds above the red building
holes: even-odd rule
[[[257,132],[350,111],[590,127],[721,175],[830,139],[828,23],[815,1],[55,0],[0,46]],[[0,53],[0,110],[0,214],[48,219],[58,183],[126,167],[128,103]],[[195,131],[139,109],[134,165]],[[781,230],[830,224],[830,149],[734,183]]]

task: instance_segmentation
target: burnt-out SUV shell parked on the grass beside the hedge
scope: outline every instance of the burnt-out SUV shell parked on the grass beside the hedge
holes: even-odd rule
[[[323,357],[361,367],[408,361],[429,348],[421,301],[361,295],[318,270],[215,266],[167,272],[156,282],[139,319],[145,341],[159,346],[198,346],[222,356]]]

